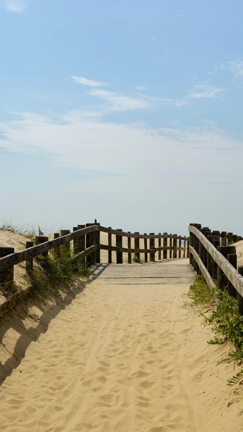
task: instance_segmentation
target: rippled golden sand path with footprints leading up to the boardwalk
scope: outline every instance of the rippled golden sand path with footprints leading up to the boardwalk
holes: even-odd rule
[[[178,308],[187,289],[88,285],[3,382],[1,431],[242,430],[243,406],[227,407],[233,366],[218,365],[225,348],[207,345],[210,330]]]

